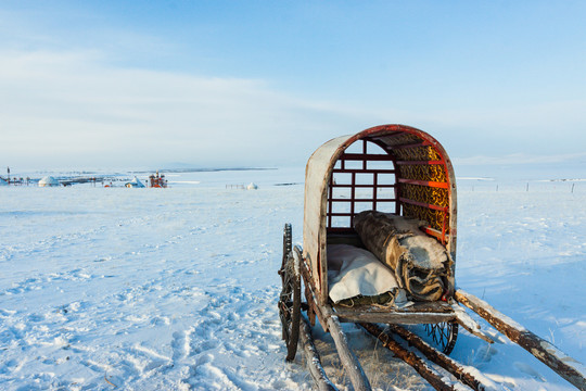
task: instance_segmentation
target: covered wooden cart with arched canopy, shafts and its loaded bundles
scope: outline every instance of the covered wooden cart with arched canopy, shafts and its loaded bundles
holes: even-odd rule
[[[436,389],[450,386],[395,338],[408,340],[467,386],[482,389],[473,374],[447,357],[459,327],[492,342],[460,304],[574,386],[586,388],[582,364],[456,289],[456,200],[446,151],[432,136],[409,126],[383,125],[337,137],[309,157],[303,248],[292,245],[292,227],[284,226],[279,314],[286,360],[295,357],[301,340],[319,389],[335,388],[311,343],[316,318],[331,333],[355,390],[369,390],[370,384],[348,349],[344,321],[378,337]],[[421,325],[415,329],[422,336],[403,325]]]

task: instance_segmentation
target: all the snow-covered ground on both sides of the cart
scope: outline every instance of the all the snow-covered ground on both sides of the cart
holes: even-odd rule
[[[284,363],[282,227],[303,167],[168,175],[168,189],[0,188],[0,389],[309,390]],[[139,176],[140,177],[140,176]],[[254,181],[258,190],[227,189]],[[586,363],[586,185],[462,180],[457,283]],[[381,390],[429,390],[353,325]],[[329,375],[348,387],[328,335]],[[451,354],[511,390],[573,390],[501,338]]]

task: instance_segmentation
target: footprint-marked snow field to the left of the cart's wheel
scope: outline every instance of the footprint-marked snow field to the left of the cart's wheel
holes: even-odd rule
[[[146,190],[3,193],[0,388],[309,389],[280,343],[280,189]]]

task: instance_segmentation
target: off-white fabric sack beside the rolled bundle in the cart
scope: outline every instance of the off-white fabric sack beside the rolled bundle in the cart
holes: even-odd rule
[[[374,297],[398,288],[393,272],[371,252],[349,244],[328,245],[328,287],[334,303],[358,294]]]

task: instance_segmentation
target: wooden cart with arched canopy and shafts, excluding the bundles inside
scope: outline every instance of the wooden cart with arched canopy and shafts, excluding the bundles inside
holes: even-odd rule
[[[441,300],[415,302],[406,307],[335,304],[329,295],[328,245],[360,247],[353,228],[358,213],[371,210],[425,222],[421,231],[445,248],[451,260],[443,277]],[[377,126],[352,136],[334,138],[310,156],[305,174],[303,248],[292,245],[292,227],[285,224],[283,258],[279,274],[282,291],[279,313],[286,360],[292,361],[301,341],[309,371],[320,390],[334,390],[313,345],[316,318],[334,340],[341,362],[355,390],[370,390],[360,363],[348,348],[341,323],[352,321],[379,338],[395,356],[404,360],[437,390],[449,390],[429,362],[397,341],[409,344],[429,361],[450,371],[456,379],[483,390],[482,379],[447,355],[458,329],[492,342],[464,306],[486,319],[511,341],[581,390],[586,390],[586,369],[549,342],[540,339],[482,300],[456,288],[457,239],[456,177],[451,162],[437,140],[405,125]],[[303,283],[302,283],[303,281]],[[302,290],[305,301],[302,300]],[[306,312],[306,316],[302,315]],[[381,328],[381,325],[387,329]],[[402,325],[425,325],[428,343]],[[391,330],[391,332],[388,332]]]

